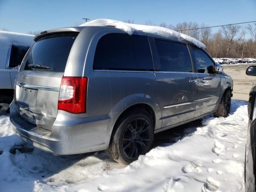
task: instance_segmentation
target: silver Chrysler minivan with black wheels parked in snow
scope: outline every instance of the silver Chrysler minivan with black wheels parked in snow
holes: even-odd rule
[[[154,133],[230,112],[232,78],[182,38],[84,26],[34,41],[10,120],[22,140],[53,154],[106,150],[129,164],[150,150]]]

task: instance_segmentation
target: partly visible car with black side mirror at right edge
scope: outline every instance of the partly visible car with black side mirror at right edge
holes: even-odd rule
[[[247,75],[256,76],[256,66],[250,66],[246,70]],[[252,82],[248,102],[248,136],[244,160],[245,191],[255,192],[256,175],[256,80]]]

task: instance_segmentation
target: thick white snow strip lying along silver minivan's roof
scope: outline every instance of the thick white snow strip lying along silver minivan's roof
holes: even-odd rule
[[[136,30],[140,30],[146,33],[157,34],[157,35],[168,37],[168,38],[182,38],[200,48],[203,48],[203,49],[206,48],[206,46],[202,42],[196,40],[195,38],[192,38],[186,34],[182,34],[174,30],[160,27],[160,26],[130,24],[130,23],[125,23],[122,21],[110,20],[110,19],[96,19],[96,20],[92,20],[90,22],[84,23],[80,26],[109,26],[109,25],[115,26],[116,28],[127,32],[129,35],[132,35],[132,33]]]

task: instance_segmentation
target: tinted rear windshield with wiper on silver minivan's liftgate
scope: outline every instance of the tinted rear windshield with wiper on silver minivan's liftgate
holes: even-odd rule
[[[39,39],[24,60],[24,70],[64,72],[77,35],[58,34]]]

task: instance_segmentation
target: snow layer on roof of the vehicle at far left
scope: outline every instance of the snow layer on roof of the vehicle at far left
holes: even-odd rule
[[[3,44],[10,44],[10,43],[16,44],[16,45],[31,46],[33,42],[34,42],[34,35],[0,30],[0,43],[2,46]]]

